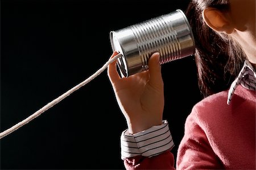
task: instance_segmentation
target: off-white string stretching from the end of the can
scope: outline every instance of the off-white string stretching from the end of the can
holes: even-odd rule
[[[7,130],[3,131],[0,133],[0,139],[2,139],[4,136],[9,135],[11,132],[17,130],[18,128],[26,125],[28,122],[32,121],[32,119],[38,117],[40,114],[44,113],[44,111],[48,110],[49,108],[51,108],[52,106],[56,105],[57,103],[59,103],[60,101],[62,101],[64,98],[68,97],[70,94],[72,94],[73,92],[75,92],[76,90],[80,89],[82,86],[88,84],[88,82],[90,82],[91,80],[93,80],[93,78],[97,77],[100,73],[102,73],[106,68],[108,68],[108,65],[110,63],[113,63],[113,61],[115,61],[116,59],[118,59],[119,57],[121,57],[122,54],[119,53],[118,55],[114,56],[112,59],[109,59],[100,69],[98,69],[98,71],[96,71],[94,74],[92,74],[92,76],[86,78],[86,80],[82,81],[80,84],[74,86],[72,89],[69,89],[67,92],[63,93],[61,96],[57,97],[56,99],[53,99],[53,101],[49,102],[47,105],[43,106],[41,109],[39,109],[38,111],[36,111],[34,114],[30,115],[29,117],[27,117],[26,119],[24,119],[23,121],[17,123],[16,125],[14,125],[13,127],[8,128]]]

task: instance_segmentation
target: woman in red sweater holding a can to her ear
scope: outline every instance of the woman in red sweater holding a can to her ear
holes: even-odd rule
[[[148,71],[127,78],[119,77],[115,62],[108,67],[128,127],[121,135],[125,167],[255,169],[255,0],[192,0],[187,17],[205,98],[187,117],[176,158],[168,122],[162,119],[159,53],[150,57]]]

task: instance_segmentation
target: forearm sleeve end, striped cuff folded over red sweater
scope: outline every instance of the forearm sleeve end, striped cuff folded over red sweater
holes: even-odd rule
[[[174,147],[168,122],[137,134],[121,135],[121,157],[126,169],[174,169]]]

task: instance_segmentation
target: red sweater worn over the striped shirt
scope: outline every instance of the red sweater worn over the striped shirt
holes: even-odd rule
[[[228,91],[197,103],[185,122],[176,157],[170,152],[124,160],[126,169],[256,169],[256,94],[237,86],[227,105]]]

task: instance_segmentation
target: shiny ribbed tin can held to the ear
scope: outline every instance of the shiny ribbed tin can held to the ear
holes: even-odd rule
[[[158,16],[117,31],[110,31],[113,51],[121,77],[128,77],[148,69],[148,59],[160,53],[159,64],[194,55],[195,40],[182,10]]]

